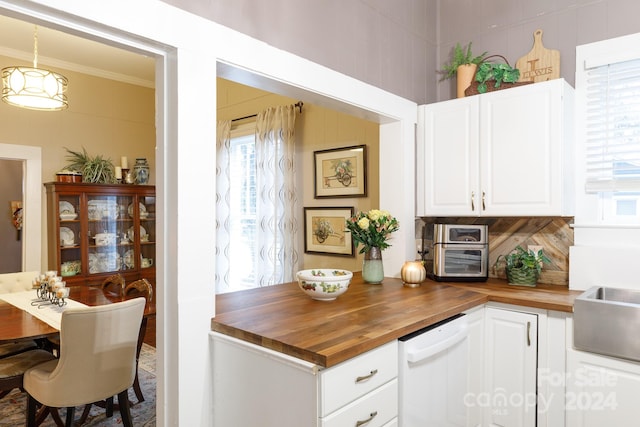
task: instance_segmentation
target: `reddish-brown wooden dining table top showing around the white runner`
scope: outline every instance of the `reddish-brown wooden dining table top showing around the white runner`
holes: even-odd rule
[[[105,295],[99,286],[71,286],[69,297],[86,305],[96,306],[123,301],[124,297]],[[33,291],[35,296],[35,290]],[[156,313],[155,298],[145,307],[145,316]],[[0,300],[0,343],[44,338],[58,330],[31,314]]]

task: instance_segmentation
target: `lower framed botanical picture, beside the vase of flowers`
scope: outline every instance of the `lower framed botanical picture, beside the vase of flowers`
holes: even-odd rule
[[[345,222],[353,208],[304,208],[304,251],[312,254],[354,256]]]

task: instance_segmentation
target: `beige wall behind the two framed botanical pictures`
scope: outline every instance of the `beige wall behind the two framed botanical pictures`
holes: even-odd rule
[[[274,95],[218,79],[218,119],[231,120],[256,114],[270,106],[293,104],[300,100]],[[302,99],[301,101],[305,101]],[[353,116],[305,103],[302,114],[296,118],[296,170],[301,191],[298,194],[300,247],[304,248],[303,207],[353,207],[355,211],[378,207],[378,146],[379,126]],[[367,146],[368,179],[367,197],[314,199],[313,152],[351,145]],[[351,271],[362,269],[362,257],[325,256],[302,254],[300,268],[344,268]]]

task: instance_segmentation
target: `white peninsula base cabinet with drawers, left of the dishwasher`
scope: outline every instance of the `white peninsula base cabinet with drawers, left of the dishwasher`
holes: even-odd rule
[[[216,332],[210,337],[214,427],[397,423],[395,341],[325,369]]]

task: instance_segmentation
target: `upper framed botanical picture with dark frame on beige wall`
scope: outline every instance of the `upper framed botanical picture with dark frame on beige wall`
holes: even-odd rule
[[[367,195],[367,146],[314,151],[315,198]]]

